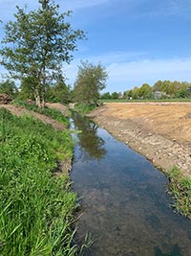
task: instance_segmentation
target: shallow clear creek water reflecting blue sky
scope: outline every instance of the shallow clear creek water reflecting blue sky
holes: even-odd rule
[[[90,232],[85,256],[190,256],[191,221],[175,213],[168,180],[105,129],[74,113],[71,173],[83,205],[75,241]]]

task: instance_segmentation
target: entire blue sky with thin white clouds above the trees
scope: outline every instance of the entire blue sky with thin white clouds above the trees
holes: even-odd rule
[[[73,11],[70,22],[85,32],[63,71],[73,86],[80,60],[101,63],[108,72],[103,92],[124,92],[159,80],[191,81],[191,0],[55,0]],[[0,0],[0,19],[15,6],[36,9],[37,0]],[[0,25],[0,39],[3,26]],[[0,73],[5,70],[0,66]]]

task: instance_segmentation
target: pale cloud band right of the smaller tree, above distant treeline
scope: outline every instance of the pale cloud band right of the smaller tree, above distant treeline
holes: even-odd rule
[[[116,62],[107,66],[110,90],[129,89],[159,80],[191,81],[191,58],[142,59]],[[117,89],[117,88],[116,88]]]

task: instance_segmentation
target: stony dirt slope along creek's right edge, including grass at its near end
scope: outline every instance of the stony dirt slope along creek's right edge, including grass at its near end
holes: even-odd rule
[[[190,150],[176,141],[142,127],[138,124],[138,120],[121,120],[103,115],[105,107],[104,105],[100,106],[87,116],[132,150],[145,156],[160,172],[166,175],[169,179],[169,194],[175,200],[173,206],[180,214],[191,218],[191,198],[189,198],[191,193],[182,193],[184,188],[181,186],[181,180],[183,182],[185,178],[191,182]],[[175,168],[180,171],[180,178],[172,178]],[[174,187],[176,187],[176,192],[172,189]]]

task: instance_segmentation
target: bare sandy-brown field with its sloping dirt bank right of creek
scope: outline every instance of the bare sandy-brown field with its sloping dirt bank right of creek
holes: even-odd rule
[[[163,171],[191,176],[191,103],[112,103],[90,116]]]

